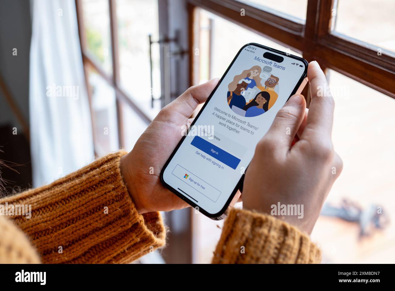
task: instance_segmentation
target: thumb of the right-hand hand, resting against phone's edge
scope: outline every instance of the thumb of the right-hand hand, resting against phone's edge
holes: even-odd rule
[[[278,147],[290,149],[305,116],[306,101],[302,95],[292,95],[275,117],[265,138],[275,141]]]

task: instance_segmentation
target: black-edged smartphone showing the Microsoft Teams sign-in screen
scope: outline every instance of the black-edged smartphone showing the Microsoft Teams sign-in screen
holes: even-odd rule
[[[277,49],[243,46],[182,132],[160,174],[162,184],[207,217],[226,217],[258,141],[307,83],[307,66]]]

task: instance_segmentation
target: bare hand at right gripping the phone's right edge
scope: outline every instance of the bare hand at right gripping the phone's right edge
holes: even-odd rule
[[[333,97],[318,96],[327,81],[316,61],[308,65],[311,103],[293,95],[258,143],[243,185],[243,208],[271,213],[271,205],[303,205],[303,218],[275,215],[311,233],[325,198],[342,171],[333,150]],[[300,138],[292,145],[293,137]],[[274,208],[274,207],[273,207]],[[301,209],[301,208],[300,208]],[[278,209],[280,210],[280,209]]]

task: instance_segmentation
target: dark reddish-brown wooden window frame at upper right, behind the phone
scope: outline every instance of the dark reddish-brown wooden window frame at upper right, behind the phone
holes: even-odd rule
[[[282,44],[298,53],[307,61],[316,60],[326,71],[331,68],[381,93],[395,98],[395,57],[393,52],[354,40],[331,30],[332,9],[336,0],[308,0],[305,24],[275,15],[265,8],[257,9],[237,0],[187,0],[190,18],[194,8],[203,8],[241,27]],[[245,16],[241,16],[241,8]],[[190,21],[190,25],[193,21]],[[190,29],[192,32],[193,29]],[[190,44],[193,46],[191,36]],[[191,80],[194,80],[194,61]],[[305,91],[306,92],[306,91]],[[305,93],[304,92],[304,93]]]

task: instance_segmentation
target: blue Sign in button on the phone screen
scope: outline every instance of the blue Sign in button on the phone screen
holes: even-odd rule
[[[212,143],[209,143],[201,137],[195,136],[192,140],[191,145],[196,146],[199,150],[202,150],[206,154],[209,154],[213,158],[216,158],[218,161],[221,161],[232,169],[236,169],[237,165],[239,165],[240,163],[239,158],[236,158],[235,156],[229,154],[218,146],[214,146]]]

